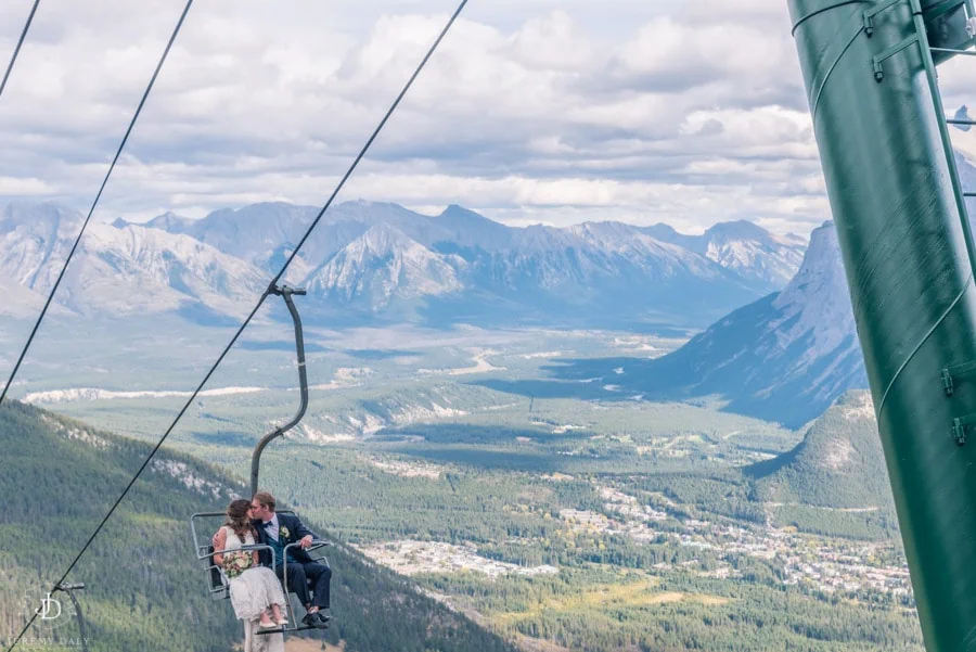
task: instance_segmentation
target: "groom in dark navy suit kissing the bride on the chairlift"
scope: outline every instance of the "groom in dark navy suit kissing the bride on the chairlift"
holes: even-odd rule
[[[322,613],[322,610],[329,609],[332,568],[314,562],[306,552],[316,536],[305,527],[297,516],[277,513],[274,504],[274,496],[267,491],[258,491],[251,501],[253,524],[258,532],[258,544],[270,546],[274,550],[274,573],[281,579],[285,566],[284,548],[288,544],[298,542],[298,548],[292,548],[288,551],[288,590],[298,596],[298,600],[308,612],[301,622],[309,627],[325,629],[329,627],[331,616]],[[261,564],[270,567],[270,551],[261,550],[258,554]],[[312,596],[308,595],[306,579],[312,580]]]

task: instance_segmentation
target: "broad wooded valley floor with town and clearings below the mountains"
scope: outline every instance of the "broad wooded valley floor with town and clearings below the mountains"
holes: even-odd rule
[[[523,650],[922,650],[894,517],[879,503],[761,499],[741,472],[801,433],[720,404],[615,391],[628,357],[677,341],[360,332],[333,349],[339,337],[319,340],[309,416],[266,453],[268,488]],[[505,391],[581,357],[625,362],[572,381],[578,396]],[[203,397],[176,445],[245,476],[254,442],[294,409],[288,360],[248,349],[219,387],[251,386],[256,368],[281,384]],[[180,405],[66,393],[76,388],[30,387],[48,407],[150,438]]]

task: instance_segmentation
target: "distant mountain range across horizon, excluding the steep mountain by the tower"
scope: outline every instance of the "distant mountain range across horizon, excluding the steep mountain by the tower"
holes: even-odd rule
[[[89,316],[240,317],[317,214],[278,203],[93,223],[57,302]],[[0,213],[0,283],[20,286],[18,304],[51,287],[81,219],[55,204]],[[782,287],[804,248],[800,238],[743,221],[701,235],[618,222],[512,228],[460,206],[431,217],[350,202],[323,216],[286,279],[308,286],[310,319],[330,325],[701,328]]]

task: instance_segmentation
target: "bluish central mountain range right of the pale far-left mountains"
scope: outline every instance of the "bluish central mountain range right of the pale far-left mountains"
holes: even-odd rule
[[[191,235],[270,273],[317,214],[256,204],[195,222],[167,214],[146,227]],[[337,318],[382,319],[407,301],[414,308],[436,304],[428,320],[586,324],[599,316],[604,324],[651,318],[693,327],[768,292],[763,270],[788,258],[793,246],[775,248],[776,240],[759,228],[735,242],[756,252],[755,273],[739,258],[712,259],[704,248],[622,223],[510,228],[460,206],[428,217],[396,204],[349,202],[325,214],[287,279],[334,303]]]

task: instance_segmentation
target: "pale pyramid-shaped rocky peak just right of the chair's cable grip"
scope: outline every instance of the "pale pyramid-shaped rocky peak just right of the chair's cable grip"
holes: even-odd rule
[[[313,296],[378,311],[395,299],[460,292],[458,270],[464,266],[462,258],[435,254],[381,223],[343,247],[307,284]]]

